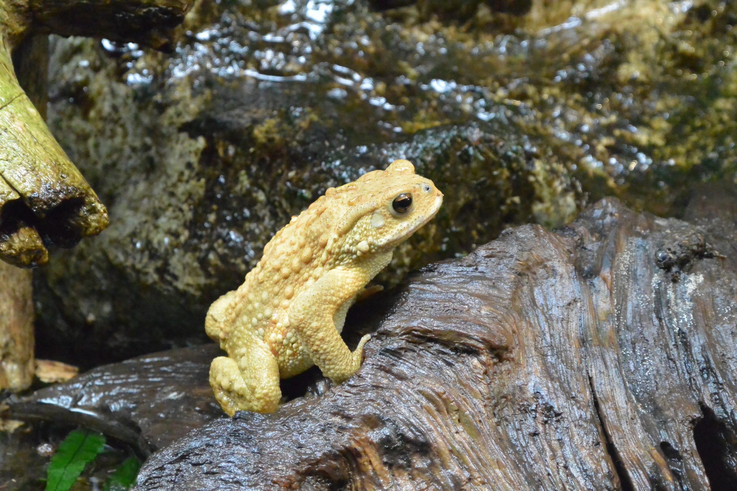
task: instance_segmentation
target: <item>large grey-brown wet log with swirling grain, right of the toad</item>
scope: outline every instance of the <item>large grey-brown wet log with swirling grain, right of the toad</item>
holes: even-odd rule
[[[737,216],[699,209],[605,199],[428,266],[349,381],[195,429],[135,489],[737,489]]]

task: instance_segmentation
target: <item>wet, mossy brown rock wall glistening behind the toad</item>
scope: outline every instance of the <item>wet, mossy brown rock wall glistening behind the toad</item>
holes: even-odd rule
[[[172,54],[55,40],[49,126],[112,225],[36,275],[39,354],[200,342],[275,230],[394,158],[446,200],[387,284],[605,194],[667,214],[735,180],[734,2],[461,3],[199,2]]]

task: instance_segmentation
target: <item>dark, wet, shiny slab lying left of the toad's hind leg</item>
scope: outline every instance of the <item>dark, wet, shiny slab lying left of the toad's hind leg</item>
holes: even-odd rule
[[[208,372],[217,345],[181,348],[98,367],[64,384],[5,401],[9,417],[83,425],[132,445],[139,455],[223,417]]]

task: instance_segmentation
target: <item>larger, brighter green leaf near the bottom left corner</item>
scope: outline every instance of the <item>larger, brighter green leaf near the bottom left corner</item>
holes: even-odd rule
[[[85,466],[105,446],[105,437],[91,431],[74,430],[66,436],[49,462],[46,491],[69,491]]]

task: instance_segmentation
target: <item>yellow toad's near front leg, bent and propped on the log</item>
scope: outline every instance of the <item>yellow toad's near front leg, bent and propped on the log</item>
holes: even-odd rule
[[[340,306],[351,303],[368,283],[366,275],[355,269],[332,269],[302,292],[289,309],[289,322],[323,375],[335,382],[346,380],[361,366],[363,345],[371,335],[361,338],[351,353],[335,326]],[[342,320],[342,319],[341,319]]]

